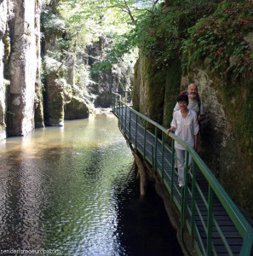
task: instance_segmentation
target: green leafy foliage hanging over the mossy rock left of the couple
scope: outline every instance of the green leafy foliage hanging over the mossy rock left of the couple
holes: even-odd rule
[[[181,45],[187,39],[187,28],[196,20],[215,10],[212,1],[167,3],[142,16],[131,32],[131,44],[137,45],[146,56],[156,57],[157,68],[168,67],[169,62],[181,58]]]

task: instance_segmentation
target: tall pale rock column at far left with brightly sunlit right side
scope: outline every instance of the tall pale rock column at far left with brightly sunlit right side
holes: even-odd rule
[[[26,135],[34,128],[34,98],[37,73],[36,15],[33,0],[16,0],[10,22],[9,136]]]

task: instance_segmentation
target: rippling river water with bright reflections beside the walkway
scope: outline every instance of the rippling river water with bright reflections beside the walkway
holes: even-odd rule
[[[127,227],[136,227],[131,216],[124,217],[125,203],[134,202],[135,210],[141,204],[139,192],[133,192],[135,178],[125,181],[133,157],[114,116],[67,121],[64,127],[9,138],[0,142],[0,161],[1,249],[59,249],[62,255],[145,251],[128,242]],[[163,218],[167,237],[171,227]],[[146,226],[142,221],[145,241]]]

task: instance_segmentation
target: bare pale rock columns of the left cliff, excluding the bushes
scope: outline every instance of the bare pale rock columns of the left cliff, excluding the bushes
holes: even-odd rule
[[[66,88],[75,87],[75,61],[69,61],[66,66],[59,57],[55,67],[60,69],[55,72],[55,67],[50,70],[52,60],[48,54],[49,63],[43,67],[48,68],[46,75],[43,73],[48,83],[42,87],[41,52],[43,60],[46,51],[52,55],[60,52],[57,40],[64,32],[43,30],[45,40],[41,47],[41,13],[40,0],[0,1],[0,140],[7,136],[24,136],[34,128],[43,127],[44,119],[47,125],[63,125],[64,105],[71,100],[68,96],[72,93]],[[54,20],[51,24],[55,24]],[[55,27],[62,28],[64,24],[57,23]],[[64,76],[70,84],[62,82]],[[80,90],[76,91],[80,96]],[[83,109],[86,102],[79,104],[75,102],[78,109]],[[83,116],[89,116],[87,108],[83,111]],[[80,116],[78,113],[78,118]]]

